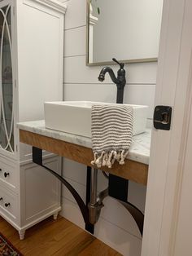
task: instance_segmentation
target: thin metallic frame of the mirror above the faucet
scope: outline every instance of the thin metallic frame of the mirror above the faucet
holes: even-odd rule
[[[116,58],[116,56],[114,56]],[[118,60],[123,63],[143,63],[143,62],[157,62],[158,58],[146,58],[146,59],[133,59],[133,60]],[[103,61],[89,63],[89,0],[86,0],[86,66],[103,66],[116,64],[114,61]]]

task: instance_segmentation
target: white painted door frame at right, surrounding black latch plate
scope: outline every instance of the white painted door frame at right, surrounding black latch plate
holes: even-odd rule
[[[142,256],[191,256],[192,1],[164,0],[156,105],[170,131],[153,130]]]

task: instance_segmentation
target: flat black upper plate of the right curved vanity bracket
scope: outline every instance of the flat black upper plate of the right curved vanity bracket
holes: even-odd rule
[[[120,201],[127,201],[129,180],[109,174],[109,196]]]

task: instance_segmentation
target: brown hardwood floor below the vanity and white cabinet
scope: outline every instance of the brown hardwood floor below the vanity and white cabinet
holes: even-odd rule
[[[121,255],[62,217],[59,217],[56,221],[53,218],[47,218],[36,226],[29,228],[25,233],[24,241],[20,241],[15,228],[11,227],[0,216],[0,232],[24,256]]]

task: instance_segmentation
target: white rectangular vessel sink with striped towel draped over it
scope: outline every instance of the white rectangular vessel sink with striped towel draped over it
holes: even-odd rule
[[[56,101],[44,104],[46,128],[91,138],[91,106],[111,104],[92,101]],[[133,135],[146,129],[147,106],[133,107]]]

